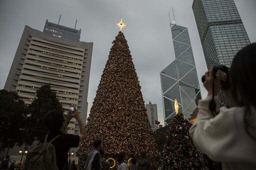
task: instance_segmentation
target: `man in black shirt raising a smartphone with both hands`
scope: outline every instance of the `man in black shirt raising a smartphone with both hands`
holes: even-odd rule
[[[46,128],[49,129],[49,133],[47,136],[47,142],[51,141],[56,136],[59,136],[55,139],[52,144],[55,146],[56,152],[56,162],[58,169],[67,170],[68,169],[68,152],[71,147],[78,147],[79,142],[86,139],[86,129],[84,123],[79,116],[79,113],[74,107],[74,112],[69,110],[67,117],[65,117],[63,111],[60,110],[53,110],[48,112],[44,117],[44,124]],[[69,121],[75,118],[79,124],[80,134],[64,134],[67,130]],[[40,140],[44,142],[46,135],[42,137]]]

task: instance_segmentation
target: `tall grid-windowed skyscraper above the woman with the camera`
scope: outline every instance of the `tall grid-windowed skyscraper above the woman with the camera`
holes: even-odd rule
[[[197,29],[207,68],[225,65],[230,68],[236,53],[250,40],[233,0],[194,0]],[[223,93],[221,105],[227,105]]]

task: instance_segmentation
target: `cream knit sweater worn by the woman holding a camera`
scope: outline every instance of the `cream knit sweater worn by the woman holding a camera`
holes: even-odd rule
[[[217,111],[213,118],[209,103],[212,96],[200,100],[198,115],[189,133],[196,147],[212,160],[222,162],[223,170],[256,170],[256,141],[245,131],[243,107],[219,109],[219,98],[215,96]],[[256,126],[256,111],[252,122]],[[253,131],[253,135],[256,130]]]

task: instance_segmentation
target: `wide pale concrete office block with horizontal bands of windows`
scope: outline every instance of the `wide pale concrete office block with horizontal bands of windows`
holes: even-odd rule
[[[25,26],[4,89],[17,91],[29,105],[36,90],[50,83],[64,113],[75,105],[85,122],[92,47],[92,42],[66,41]],[[74,118],[68,128],[79,133]]]

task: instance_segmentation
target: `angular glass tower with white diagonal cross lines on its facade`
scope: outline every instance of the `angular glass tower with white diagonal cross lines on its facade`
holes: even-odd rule
[[[173,24],[171,30],[176,59],[160,72],[165,125],[176,115],[175,98],[187,120],[202,99],[188,29]]]

